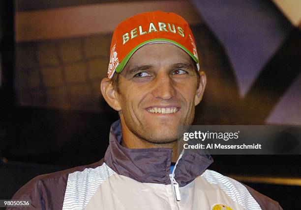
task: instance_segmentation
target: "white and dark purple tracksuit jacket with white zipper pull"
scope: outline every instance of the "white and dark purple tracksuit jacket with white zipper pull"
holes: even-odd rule
[[[120,142],[119,120],[100,161],[38,176],[12,199],[30,200],[27,210],[282,210],[254,189],[207,169],[213,160],[203,152],[184,150],[170,174],[172,149],[128,149]]]

